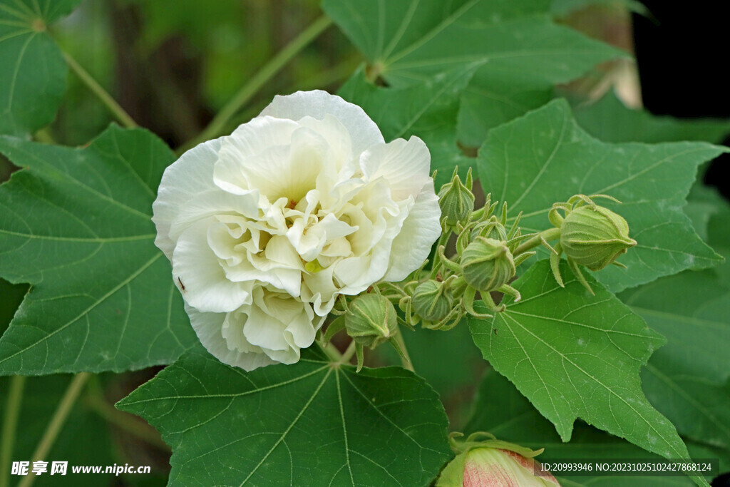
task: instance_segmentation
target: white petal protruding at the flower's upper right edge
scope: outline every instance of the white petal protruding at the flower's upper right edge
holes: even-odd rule
[[[431,153],[418,137],[396,139],[370,147],[360,158],[367,180],[385,177],[396,201],[418,196],[429,181]]]

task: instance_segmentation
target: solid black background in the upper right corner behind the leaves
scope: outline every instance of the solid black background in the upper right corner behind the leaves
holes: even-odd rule
[[[646,110],[677,118],[730,118],[728,2],[642,0],[651,16],[634,14],[634,39]],[[723,143],[729,145],[730,137]],[[730,198],[723,155],[704,183]]]

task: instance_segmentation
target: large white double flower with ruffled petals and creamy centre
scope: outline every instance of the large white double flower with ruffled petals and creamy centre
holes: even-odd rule
[[[324,91],[277,96],[188,150],[153,221],[203,345],[248,370],[293,363],[338,294],[407,277],[440,234],[429,167],[418,137],[385,143]]]

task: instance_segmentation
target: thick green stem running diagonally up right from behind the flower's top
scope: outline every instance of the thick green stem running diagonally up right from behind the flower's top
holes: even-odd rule
[[[264,65],[251,79],[239,89],[239,91],[228,101],[228,103],[215,115],[210,124],[198,135],[193,138],[190,142],[183,145],[178,150],[179,153],[185,152],[185,150],[195,147],[201,142],[217,137],[221,134],[223,129],[226,127],[228,120],[236,115],[236,112],[251,99],[253,95],[264,86],[269,80],[274,77],[291,59],[299,53],[304,47],[310,42],[316,39],[323,31],[326,30],[332,23],[332,20],[326,15],[315,20],[309,27],[301,31],[301,33],[289,42],[283,50],[275,55],[268,63]]]

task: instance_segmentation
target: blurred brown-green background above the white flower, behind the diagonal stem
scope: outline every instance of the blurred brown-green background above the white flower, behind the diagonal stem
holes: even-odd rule
[[[54,28],[61,47],[139,125],[178,147],[320,15],[316,0],[85,1]],[[337,28],[328,28],[255,94],[230,129],[257,115],[276,93],[335,91],[360,62]],[[109,121],[99,101],[69,77],[50,131],[66,144],[82,144]]]

